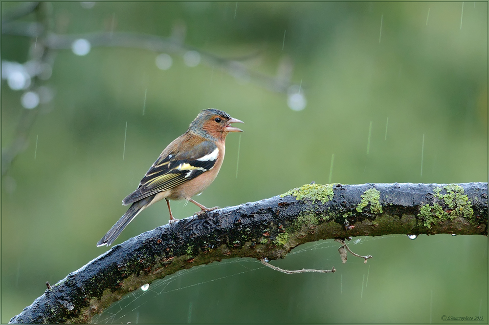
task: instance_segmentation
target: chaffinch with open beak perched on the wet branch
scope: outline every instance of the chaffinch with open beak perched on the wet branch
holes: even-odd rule
[[[170,200],[185,199],[194,203],[200,207],[200,211],[194,214],[197,216],[219,209],[219,206],[207,208],[192,197],[202,193],[219,173],[228,133],[243,132],[231,123],[244,122],[219,109],[200,111],[187,131],[163,150],[136,190],[122,200],[123,205],[131,206],[97,243],[97,247],[111,245],[142,210],[163,199],[168,205],[170,224],[178,221],[173,217]]]

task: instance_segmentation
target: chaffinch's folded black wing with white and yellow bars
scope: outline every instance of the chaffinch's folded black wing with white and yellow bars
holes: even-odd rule
[[[212,141],[202,141],[189,152],[179,151],[178,147],[175,149],[177,152],[168,153],[166,149],[163,151],[143,177],[139,187],[122,201],[124,205],[198,177],[214,167],[219,154],[219,148]]]

